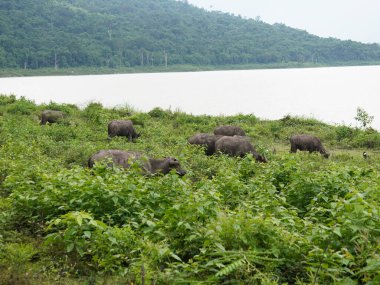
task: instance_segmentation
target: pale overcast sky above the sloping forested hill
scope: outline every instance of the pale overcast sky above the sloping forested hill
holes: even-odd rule
[[[188,0],[207,10],[306,30],[321,37],[380,43],[380,0]]]

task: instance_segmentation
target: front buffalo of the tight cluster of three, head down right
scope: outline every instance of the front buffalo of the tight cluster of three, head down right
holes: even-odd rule
[[[267,162],[265,156],[257,153],[253,145],[246,138],[223,136],[216,141],[215,149],[225,154],[240,157],[252,153],[256,161]]]

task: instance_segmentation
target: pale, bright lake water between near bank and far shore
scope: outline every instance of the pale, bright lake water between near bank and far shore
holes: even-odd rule
[[[380,130],[380,66],[0,78],[0,94],[80,107],[128,104],[144,112],[290,114],[351,126],[361,107]]]

